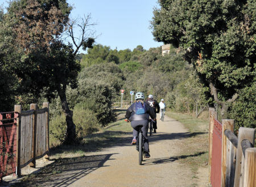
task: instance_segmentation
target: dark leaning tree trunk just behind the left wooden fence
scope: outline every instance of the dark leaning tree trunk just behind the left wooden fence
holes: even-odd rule
[[[66,87],[63,86],[63,88],[58,91],[58,94],[60,96],[61,107],[65,113],[67,122],[67,137],[65,138],[64,144],[71,145],[76,141],[76,125],[73,122],[73,111],[68,107]]]

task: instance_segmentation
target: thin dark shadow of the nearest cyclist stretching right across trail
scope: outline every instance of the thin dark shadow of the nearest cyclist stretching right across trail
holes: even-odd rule
[[[170,156],[170,157],[165,157],[165,158],[147,159],[147,160],[144,160],[144,162],[142,164],[143,165],[155,165],[155,164],[171,163],[171,162],[175,162],[176,160],[186,159],[186,158],[190,158],[190,157],[196,157],[196,156],[200,156],[205,153],[206,152],[199,152],[199,153],[193,154],[193,155],[181,155],[181,156]]]

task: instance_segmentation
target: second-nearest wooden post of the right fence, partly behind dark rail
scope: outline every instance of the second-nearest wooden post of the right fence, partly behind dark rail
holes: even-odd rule
[[[242,186],[243,184],[243,169],[242,169],[243,153],[242,153],[241,142],[243,139],[248,139],[254,145],[254,136],[255,136],[255,129],[240,128],[238,131],[234,187]]]

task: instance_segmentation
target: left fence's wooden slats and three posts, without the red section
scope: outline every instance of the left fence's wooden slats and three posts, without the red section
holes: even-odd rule
[[[38,109],[31,104],[29,111],[22,111],[21,105],[15,105],[16,117],[16,175],[20,176],[21,168],[30,164],[36,166],[36,159],[49,158],[49,104],[43,103]]]

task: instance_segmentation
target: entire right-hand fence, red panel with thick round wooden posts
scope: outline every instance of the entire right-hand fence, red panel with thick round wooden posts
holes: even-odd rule
[[[256,186],[255,129],[240,128],[234,134],[234,120],[216,120],[209,109],[209,181],[215,186]]]

